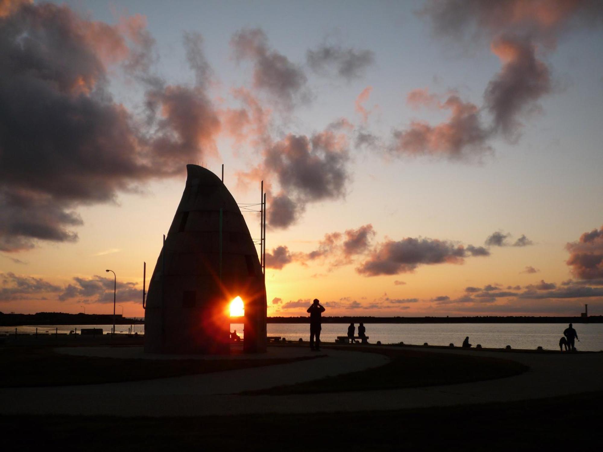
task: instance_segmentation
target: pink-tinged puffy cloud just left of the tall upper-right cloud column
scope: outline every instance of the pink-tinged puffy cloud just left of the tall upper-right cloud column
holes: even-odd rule
[[[421,99],[425,102],[426,99]],[[414,92],[406,102],[417,105]],[[447,121],[432,126],[423,121],[412,121],[404,130],[394,129],[394,143],[390,152],[394,155],[429,155],[450,160],[479,160],[490,154],[487,144],[489,132],[482,127],[479,108],[464,102],[458,95],[449,96],[438,102],[437,108],[450,111]]]

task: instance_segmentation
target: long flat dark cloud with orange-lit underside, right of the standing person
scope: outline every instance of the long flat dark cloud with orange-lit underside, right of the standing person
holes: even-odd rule
[[[463,263],[470,254],[462,245],[446,240],[407,237],[380,243],[356,271],[365,276],[396,275],[419,265]]]

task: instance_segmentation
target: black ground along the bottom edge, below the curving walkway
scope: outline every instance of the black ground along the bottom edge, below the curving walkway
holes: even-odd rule
[[[0,416],[5,446],[87,451],[598,450],[603,392],[394,412],[201,418]],[[589,445],[592,448],[585,448]]]

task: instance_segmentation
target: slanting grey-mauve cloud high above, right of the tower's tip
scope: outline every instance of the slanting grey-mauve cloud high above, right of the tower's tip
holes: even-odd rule
[[[233,35],[230,45],[237,60],[253,62],[253,86],[256,89],[265,90],[286,108],[307,98],[306,75],[285,55],[270,48],[263,30],[240,30]]]

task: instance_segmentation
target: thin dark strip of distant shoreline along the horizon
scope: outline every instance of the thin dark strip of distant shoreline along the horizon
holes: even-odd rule
[[[231,323],[243,323],[242,318],[231,318]],[[268,317],[270,324],[307,324],[308,316],[298,317]],[[344,316],[323,317],[323,324],[349,324],[364,322],[366,324],[461,324],[461,323],[603,323],[603,316],[588,318],[554,317],[554,316],[474,316],[474,317],[370,317]],[[0,313],[0,326],[14,327],[27,325],[110,325],[113,324],[112,314],[67,314],[62,312],[38,312],[35,314],[5,314]],[[144,318],[122,317],[115,315],[117,325],[144,324]]]

